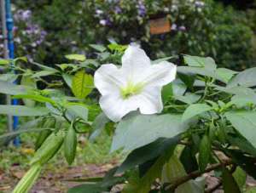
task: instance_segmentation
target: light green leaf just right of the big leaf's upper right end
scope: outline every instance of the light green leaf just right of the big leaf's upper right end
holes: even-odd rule
[[[190,118],[200,115],[203,112],[212,110],[212,106],[207,104],[192,104],[184,111],[182,121],[189,120]]]

